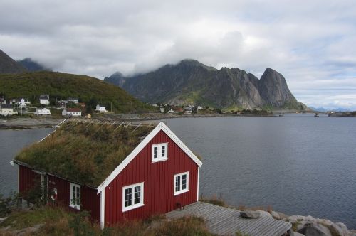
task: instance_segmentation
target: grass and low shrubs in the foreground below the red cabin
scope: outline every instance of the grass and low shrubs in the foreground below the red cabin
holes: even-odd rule
[[[97,222],[90,222],[88,212],[73,213],[60,206],[45,206],[11,213],[0,224],[1,235],[11,235],[16,230],[39,226],[31,235],[211,235],[201,218],[179,218],[165,220],[151,218],[148,220],[125,221],[113,227],[100,230]],[[8,227],[4,230],[4,227]],[[4,231],[1,231],[3,228]],[[26,232],[26,230],[25,230]]]

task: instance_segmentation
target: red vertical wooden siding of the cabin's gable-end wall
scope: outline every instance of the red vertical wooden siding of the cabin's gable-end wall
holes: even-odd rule
[[[152,163],[152,144],[168,143],[168,160]],[[174,194],[174,175],[189,171],[189,191]],[[144,182],[144,205],[122,213],[122,187]],[[105,223],[167,213],[177,203],[197,201],[198,166],[172,139],[160,131],[105,188]]]

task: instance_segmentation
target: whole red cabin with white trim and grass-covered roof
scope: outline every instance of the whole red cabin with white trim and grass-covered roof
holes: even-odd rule
[[[199,197],[201,161],[163,122],[64,122],[13,163],[19,193],[45,181],[51,199],[89,210],[102,227],[167,213]]]

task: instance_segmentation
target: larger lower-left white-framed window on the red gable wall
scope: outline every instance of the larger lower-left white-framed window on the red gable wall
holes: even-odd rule
[[[143,182],[122,187],[122,212],[140,208],[143,204]]]

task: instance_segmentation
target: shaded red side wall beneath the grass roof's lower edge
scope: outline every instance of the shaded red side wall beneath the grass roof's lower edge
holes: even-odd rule
[[[57,201],[69,208],[70,182],[56,176],[48,176],[48,188],[57,189]],[[25,193],[28,188],[32,188],[34,181],[40,181],[40,176],[34,173],[31,168],[19,165],[19,193]],[[86,186],[80,186],[80,210],[89,210],[93,220],[100,221],[100,195],[97,190]],[[73,209],[73,208],[70,208]]]

